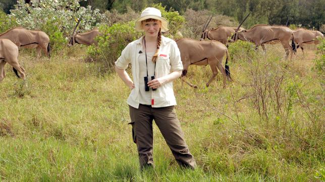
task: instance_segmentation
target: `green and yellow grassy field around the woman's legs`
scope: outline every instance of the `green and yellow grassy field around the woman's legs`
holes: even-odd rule
[[[307,46],[306,46],[307,47]],[[10,66],[0,83],[2,181],[325,180],[324,85],[315,47],[285,60],[279,45],[233,55],[233,82],[205,87],[209,66],[190,66],[194,89],[174,82],[176,111],[198,168],[179,168],[154,130],[155,168],[139,170],[126,99],[115,73],[76,51],[36,60],[21,51],[24,82]],[[68,53],[67,53],[68,52]],[[26,86],[27,85],[27,86]]]

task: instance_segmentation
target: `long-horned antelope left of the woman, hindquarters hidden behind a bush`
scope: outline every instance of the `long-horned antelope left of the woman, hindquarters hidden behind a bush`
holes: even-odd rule
[[[97,37],[99,35],[98,29],[95,28],[95,29],[92,29],[92,30],[90,30],[88,32],[84,32],[84,33],[75,33],[82,17],[83,17],[83,14],[81,15],[80,19],[77,22],[77,25],[75,26],[75,28],[72,32],[68,47],[71,47],[76,43],[84,44],[84,45],[92,45],[92,44],[97,45],[97,41],[95,40],[95,37]]]

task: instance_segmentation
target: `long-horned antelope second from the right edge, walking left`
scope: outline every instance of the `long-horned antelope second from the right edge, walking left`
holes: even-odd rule
[[[250,28],[249,30],[242,30],[235,32],[234,39],[253,42],[256,48],[263,44],[275,44],[281,43],[286,51],[286,55],[289,55],[290,60],[292,59],[293,51],[295,50],[295,43],[292,41],[292,45],[289,41],[293,39],[292,30],[284,26],[268,26],[264,24],[258,24]],[[264,49],[264,47],[262,46]]]

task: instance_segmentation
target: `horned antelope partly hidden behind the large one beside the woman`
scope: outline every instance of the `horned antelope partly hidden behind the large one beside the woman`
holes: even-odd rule
[[[212,17],[211,17],[212,19]],[[210,20],[211,20],[210,19]],[[209,21],[210,23],[210,21]],[[228,46],[228,37],[231,37],[235,31],[236,31],[236,27],[224,27],[224,26],[220,26],[218,28],[215,29],[211,29],[211,30],[207,30],[207,26],[209,25],[209,23],[207,23],[202,30],[202,34],[201,34],[201,38],[200,40],[204,40],[204,39],[209,39],[209,40],[216,40],[219,41],[225,45]],[[239,31],[244,30],[243,28],[239,28]]]

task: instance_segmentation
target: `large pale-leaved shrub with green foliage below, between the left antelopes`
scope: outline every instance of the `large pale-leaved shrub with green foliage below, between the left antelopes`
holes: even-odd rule
[[[99,10],[80,7],[78,0],[32,0],[32,6],[25,1],[17,1],[15,9],[11,10],[11,18],[16,18],[18,25],[30,30],[44,31],[53,45],[52,50],[60,50],[67,42],[65,37],[70,36],[76,22],[83,15],[79,30],[91,30],[100,20]]]

